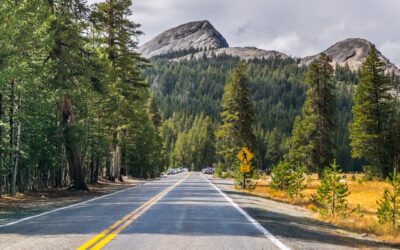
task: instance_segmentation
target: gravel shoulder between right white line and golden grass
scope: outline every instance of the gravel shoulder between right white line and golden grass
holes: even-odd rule
[[[250,216],[292,249],[400,249],[315,219],[313,212],[235,190],[232,180],[208,177]]]

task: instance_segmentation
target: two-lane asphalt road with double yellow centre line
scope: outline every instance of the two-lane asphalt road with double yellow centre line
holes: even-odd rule
[[[0,227],[0,249],[284,249],[200,173]]]

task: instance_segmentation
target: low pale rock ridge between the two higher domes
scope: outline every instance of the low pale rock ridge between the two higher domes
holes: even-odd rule
[[[270,59],[270,58],[279,58],[279,59],[288,59],[289,56],[275,50],[263,50],[258,49],[255,47],[233,47],[233,48],[221,48],[221,49],[214,49],[208,51],[201,51],[197,52],[193,55],[186,55],[183,57],[179,57],[174,59],[175,61],[181,60],[190,60],[190,59],[199,59],[203,56],[208,58],[213,56],[232,56],[232,57],[239,57],[243,60],[251,60],[251,59]]]

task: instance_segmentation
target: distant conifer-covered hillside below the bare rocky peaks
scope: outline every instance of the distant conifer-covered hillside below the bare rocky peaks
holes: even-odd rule
[[[239,58],[218,56],[198,60],[169,61],[168,54],[152,59],[153,67],[146,69],[144,77],[157,97],[165,122],[162,126],[167,165],[182,164],[176,142],[192,129],[197,116],[208,116],[217,130],[220,124],[221,98],[230,71],[240,62]],[[288,151],[296,115],[304,103],[306,66],[299,66],[295,59],[254,59],[247,63],[247,77],[251,100],[256,110],[254,134],[257,139],[257,155],[260,168],[271,168],[283,159]],[[351,119],[351,98],[358,76],[346,67],[337,66],[338,133],[335,133],[335,156],[347,171],[360,171],[360,165],[350,157],[348,124]],[[182,139],[180,139],[182,140]],[[190,139],[186,140],[186,155]],[[215,147],[215,142],[208,144]],[[178,150],[179,151],[179,150]],[[194,150],[196,151],[196,150]],[[186,157],[185,161],[189,161]],[[208,160],[207,163],[210,163]],[[202,166],[194,161],[195,166]],[[204,165],[204,164],[203,164]]]

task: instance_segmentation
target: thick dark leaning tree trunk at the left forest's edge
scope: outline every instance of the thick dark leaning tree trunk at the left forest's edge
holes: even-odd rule
[[[73,182],[71,188],[89,190],[83,175],[81,154],[75,140],[76,118],[71,99],[68,96],[64,96],[63,100],[61,100],[59,111],[69,173]]]

